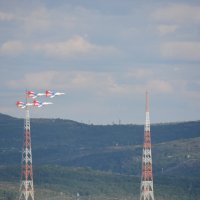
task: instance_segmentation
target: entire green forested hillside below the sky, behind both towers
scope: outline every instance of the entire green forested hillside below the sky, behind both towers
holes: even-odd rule
[[[17,199],[23,119],[0,114],[0,200]],[[36,200],[139,196],[144,127],[31,119]],[[151,126],[156,199],[200,197],[200,121]]]

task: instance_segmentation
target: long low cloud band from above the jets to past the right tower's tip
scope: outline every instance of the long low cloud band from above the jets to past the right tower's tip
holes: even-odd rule
[[[126,72],[128,73],[128,72]],[[124,73],[123,76],[127,76]],[[141,83],[122,83],[113,73],[84,71],[43,71],[26,74],[21,80],[7,83],[11,88],[58,89],[62,91],[90,92],[93,95],[107,98],[108,96],[130,96],[143,94],[146,89],[153,93],[170,93],[172,85],[163,80],[150,80]]]

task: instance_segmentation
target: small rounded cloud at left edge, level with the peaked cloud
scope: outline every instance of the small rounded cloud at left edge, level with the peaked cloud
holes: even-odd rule
[[[25,51],[25,45],[20,41],[7,41],[0,47],[0,54],[18,55]]]

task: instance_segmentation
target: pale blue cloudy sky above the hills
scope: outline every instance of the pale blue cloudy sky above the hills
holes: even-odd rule
[[[200,1],[0,0],[0,113],[93,124],[200,120]],[[32,100],[29,100],[32,101]]]

